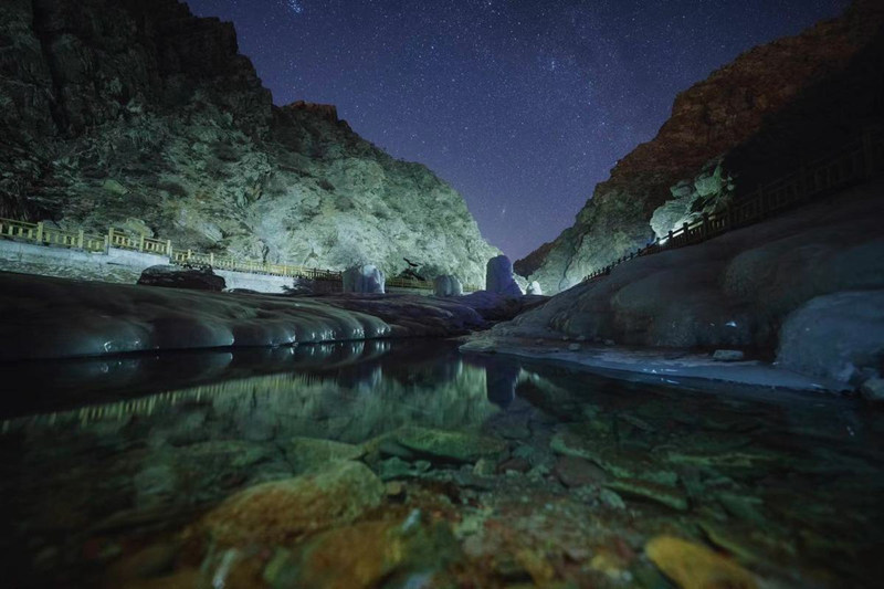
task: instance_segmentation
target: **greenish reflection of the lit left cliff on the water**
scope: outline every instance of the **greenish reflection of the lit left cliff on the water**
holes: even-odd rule
[[[316,355],[325,351],[315,347]],[[417,380],[397,378],[391,371],[369,362],[332,375],[257,376],[10,420],[3,429],[77,422],[90,429],[95,421],[123,422],[139,416],[143,423],[175,431],[190,428],[199,413],[203,428],[250,440],[312,435],[362,441],[403,424],[477,427],[496,411],[486,400],[483,368],[462,362],[444,370],[428,367]]]

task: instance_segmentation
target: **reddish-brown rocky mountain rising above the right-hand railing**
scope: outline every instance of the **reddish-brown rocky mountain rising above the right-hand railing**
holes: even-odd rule
[[[855,0],[681,93],[657,136],[618,161],[575,224],[515,267],[545,293],[569,288],[692,209],[738,199],[859,138],[884,112],[883,22],[884,3]]]

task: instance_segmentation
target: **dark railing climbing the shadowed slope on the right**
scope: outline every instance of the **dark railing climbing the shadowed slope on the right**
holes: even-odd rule
[[[764,221],[796,204],[821,194],[867,181],[884,170],[884,134],[881,129],[867,130],[862,140],[853,141],[841,150],[809,162],[796,172],[756,188],[745,198],[723,211],[703,213],[694,223],[684,223],[664,238],[657,238],[644,248],[614,260],[583,278],[589,282],[611,273],[614,266],[633,257],[665,250],[694,245],[733,229]]]

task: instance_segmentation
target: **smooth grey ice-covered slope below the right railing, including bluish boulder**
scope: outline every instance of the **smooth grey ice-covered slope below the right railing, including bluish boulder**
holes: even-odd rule
[[[859,386],[884,368],[882,188],[638,257],[492,333],[776,353],[782,368]]]

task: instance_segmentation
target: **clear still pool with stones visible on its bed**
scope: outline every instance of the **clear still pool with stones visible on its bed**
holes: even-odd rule
[[[8,587],[876,587],[884,572],[884,413],[843,399],[420,340],[0,365],[0,382]]]

